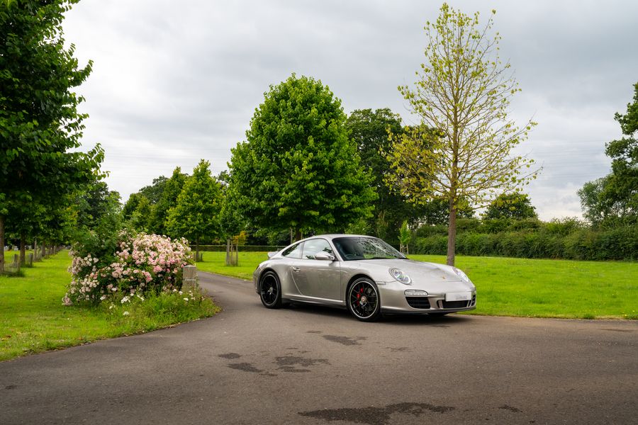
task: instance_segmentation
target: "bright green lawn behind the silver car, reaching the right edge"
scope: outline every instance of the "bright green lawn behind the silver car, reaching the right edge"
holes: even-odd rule
[[[197,267],[250,280],[267,255],[240,252],[237,267],[224,259],[224,252],[205,252]],[[410,259],[445,263],[445,256]],[[638,263],[457,256],[457,266],[477,290],[476,310],[465,314],[638,319]]]

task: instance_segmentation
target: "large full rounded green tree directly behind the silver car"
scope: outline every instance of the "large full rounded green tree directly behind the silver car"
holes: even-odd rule
[[[293,229],[300,239],[370,215],[372,179],[345,120],[321,81],[293,74],[270,86],[228,164],[244,217],[264,229]]]

